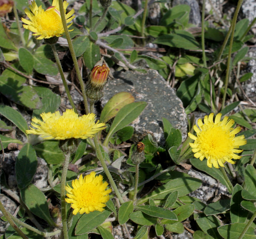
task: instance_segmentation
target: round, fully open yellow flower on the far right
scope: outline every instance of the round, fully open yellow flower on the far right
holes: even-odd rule
[[[224,163],[227,161],[231,164],[236,162],[231,159],[240,159],[241,156],[235,153],[241,153],[243,150],[239,149],[239,146],[245,145],[245,136],[236,136],[235,134],[241,131],[240,127],[232,128],[234,124],[233,119],[224,117],[223,121],[220,121],[221,114],[217,114],[215,121],[213,122],[213,115],[211,113],[209,117],[204,116],[204,124],[201,119],[197,121],[199,128],[194,125],[196,135],[189,133],[189,137],[195,140],[194,143],[189,143],[192,151],[195,153],[195,158],[199,158],[201,161],[207,158],[207,166],[215,168],[225,167]]]

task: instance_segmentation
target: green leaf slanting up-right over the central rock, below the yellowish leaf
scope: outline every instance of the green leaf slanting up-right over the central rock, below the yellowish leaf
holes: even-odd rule
[[[127,124],[133,122],[143,111],[146,107],[146,102],[134,102],[124,106],[120,111],[117,113],[116,117],[114,118],[111,127],[108,131],[108,135],[104,141],[103,145],[108,144],[109,138],[118,130],[125,127]]]

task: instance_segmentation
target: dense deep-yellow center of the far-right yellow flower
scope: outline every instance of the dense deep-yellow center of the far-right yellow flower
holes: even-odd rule
[[[198,133],[198,143],[201,151],[205,152],[206,156],[214,158],[223,158],[230,154],[233,149],[234,135],[226,130],[223,126],[204,125],[206,130]],[[210,127],[209,127],[210,126]]]

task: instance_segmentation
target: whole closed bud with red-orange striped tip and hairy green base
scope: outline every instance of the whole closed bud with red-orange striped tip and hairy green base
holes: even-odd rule
[[[86,86],[86,95],[89,99],[98,101],[103,97],[103,87],[107,82],[108,74],[109,68],[104,63],[92,69],[90,81]]]

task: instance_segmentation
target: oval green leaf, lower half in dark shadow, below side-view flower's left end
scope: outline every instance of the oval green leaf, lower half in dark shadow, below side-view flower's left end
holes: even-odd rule
[[[25,144],[20,150],[15,163],[15,173],[18,188],[23,189],[30,184],[36,173],[36,152],[30,144]]]

